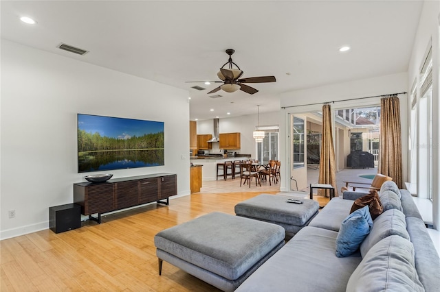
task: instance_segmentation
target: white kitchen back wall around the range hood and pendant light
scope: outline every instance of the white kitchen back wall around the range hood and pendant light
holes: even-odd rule
[[[260,126],[279,125],[279,112],[260,113]],[[256,157],[255,140],[252,137],[255,127],[259,124],[258,114],[249,114],[241,117],[219,119],[220,133],[241,133],[240,154],[250,154]],[[214,122],[211,120],[197,121],[197,134],[214,134]],[[232,151],[232,150],[231,150]],[[211,153],[219,153],[219,143],[212,143]]]

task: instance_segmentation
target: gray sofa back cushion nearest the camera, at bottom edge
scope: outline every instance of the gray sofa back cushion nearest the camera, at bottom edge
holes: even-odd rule
[[[412,243],[398,235],[382,239],[353,271],[346,291],[424,291]]]

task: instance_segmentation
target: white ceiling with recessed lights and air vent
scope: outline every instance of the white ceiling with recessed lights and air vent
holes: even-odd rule
[[[280,108],[299,88],[405,72],[423,1],[1,1],[1,38],[188,90],[190,119]],[[38,23],[27,25],[19,16]],[[61,42],[89,51],[56,48]],[[343,45],[351,46],[345,53]],[[228,61],[259,93],[207,95]],[[289,73],[287,75],[286,73]],[[207,90],[194,90],[199,85]],[[210,112],[210,108],[214,112]],[[230,112],[229,116],[226,112]]]

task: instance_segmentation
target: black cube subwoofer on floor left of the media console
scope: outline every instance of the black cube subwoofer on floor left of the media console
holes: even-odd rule
[[[81,206],[65,204],[49,208],[49,228],[55,233],[81,227]]]

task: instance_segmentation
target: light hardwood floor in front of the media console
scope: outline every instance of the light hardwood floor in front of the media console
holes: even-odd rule
[[[0,242],[1,291],[219,291],[164,262],[157,273],[154,235],[261,192],[196,193],[102,217],[102,224],[55,234],[43,230]],[[277,192],[267,192],[275,194]],[[320,197],[321,206],[328,201]],[[221,243],[219,243],[221,244]]]

